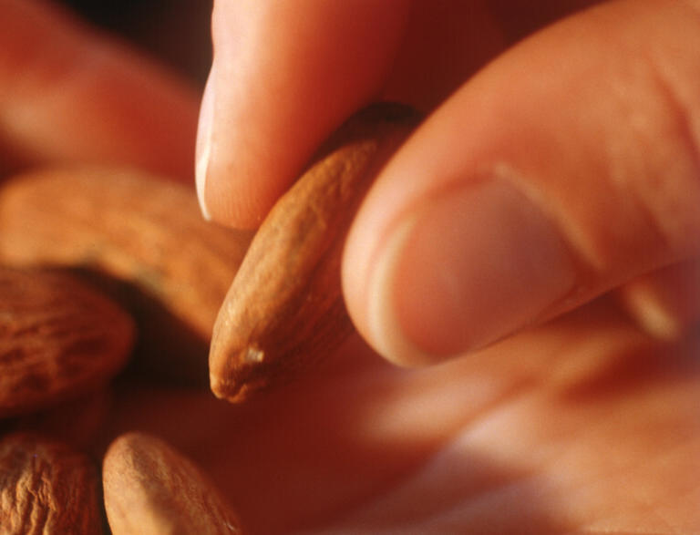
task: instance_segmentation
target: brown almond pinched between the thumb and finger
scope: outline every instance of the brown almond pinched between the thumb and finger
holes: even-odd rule
[[[238,401],[333,351],[353,330],[341,292],[345,235],[417,114],[377,104],[350,118],[262,222],[214,326],[211,389]]]

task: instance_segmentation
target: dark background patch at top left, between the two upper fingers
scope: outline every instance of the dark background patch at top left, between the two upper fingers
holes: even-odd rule
[[[211,64],[212,0],[57,0],[202,87]]]

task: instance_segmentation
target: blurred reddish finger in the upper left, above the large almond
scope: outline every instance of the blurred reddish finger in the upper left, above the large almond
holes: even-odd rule
[[[197,98],[57,5],[0,0],[0,172],[86,162],[190,183]]]

